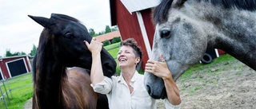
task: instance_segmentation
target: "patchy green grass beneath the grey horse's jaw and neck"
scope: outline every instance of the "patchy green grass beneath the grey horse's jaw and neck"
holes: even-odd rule
[[[220,72],[228,68],[230,63],[234,62],[236,59],[229,54],[223,54],[218,58],[215,58],[212,63],[210,64],[195,64],[191,66],[186,72],[182,74],[182,76],[178,79],[178,82],[181,84],[186,84],[190,80],[198,81],[198,84],[195,84],[192,88],[189,86],[185,86],[180,88],[181,91],[187,91],[189,95],[194,95],[195,92],[201,90],[202,88],[208,87],[207,85],[216,86],[218,84],[218,80],[216,79],[209,79],[205,76],[216,76],[218,77],[221,75]],[[223,65],[223,67],[215,68],[216,66]],[[206,73],[206,74],[202,74]],[[237,74],[241,75],[241,74]]]

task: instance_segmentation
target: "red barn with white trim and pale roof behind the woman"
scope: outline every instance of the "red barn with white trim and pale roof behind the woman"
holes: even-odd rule
[[[142,68],[149,59],[154,39],[151,8],[158,0],[110,0],[111,25],[118,25],[122,39],[133,37],[142,47]]]

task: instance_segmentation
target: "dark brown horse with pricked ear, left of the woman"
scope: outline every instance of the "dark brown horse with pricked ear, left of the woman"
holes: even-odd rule
[[[106,95],[90,87],[90,70],[86,69],[91,68],[92,57],[83,41],[90,42],[92,37],[86,26],[63,14],[29,17],[44,27],[34,56],[33,108],[108,108]],[[101,58],[104,75],[113,76],[114,58],[106,49]]]

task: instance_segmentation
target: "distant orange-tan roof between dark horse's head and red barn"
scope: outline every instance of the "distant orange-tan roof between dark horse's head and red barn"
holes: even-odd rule
[[[102,35],[99,35],[96,37],[96,39],[98,41],[106,41],[106,40],[111,40],[113,39],[114,37],[120,37],[120,33],[119,31],[114,31],[114,32],[111,32],[111,33],[105,33],[105,34],[102,34]]]

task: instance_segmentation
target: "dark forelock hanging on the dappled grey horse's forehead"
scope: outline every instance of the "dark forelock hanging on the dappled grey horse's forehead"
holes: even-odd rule
[[[162,2],[154,8],[154,23],[161,24],[168,20],[168,11],[173,0],[162,0]]]

